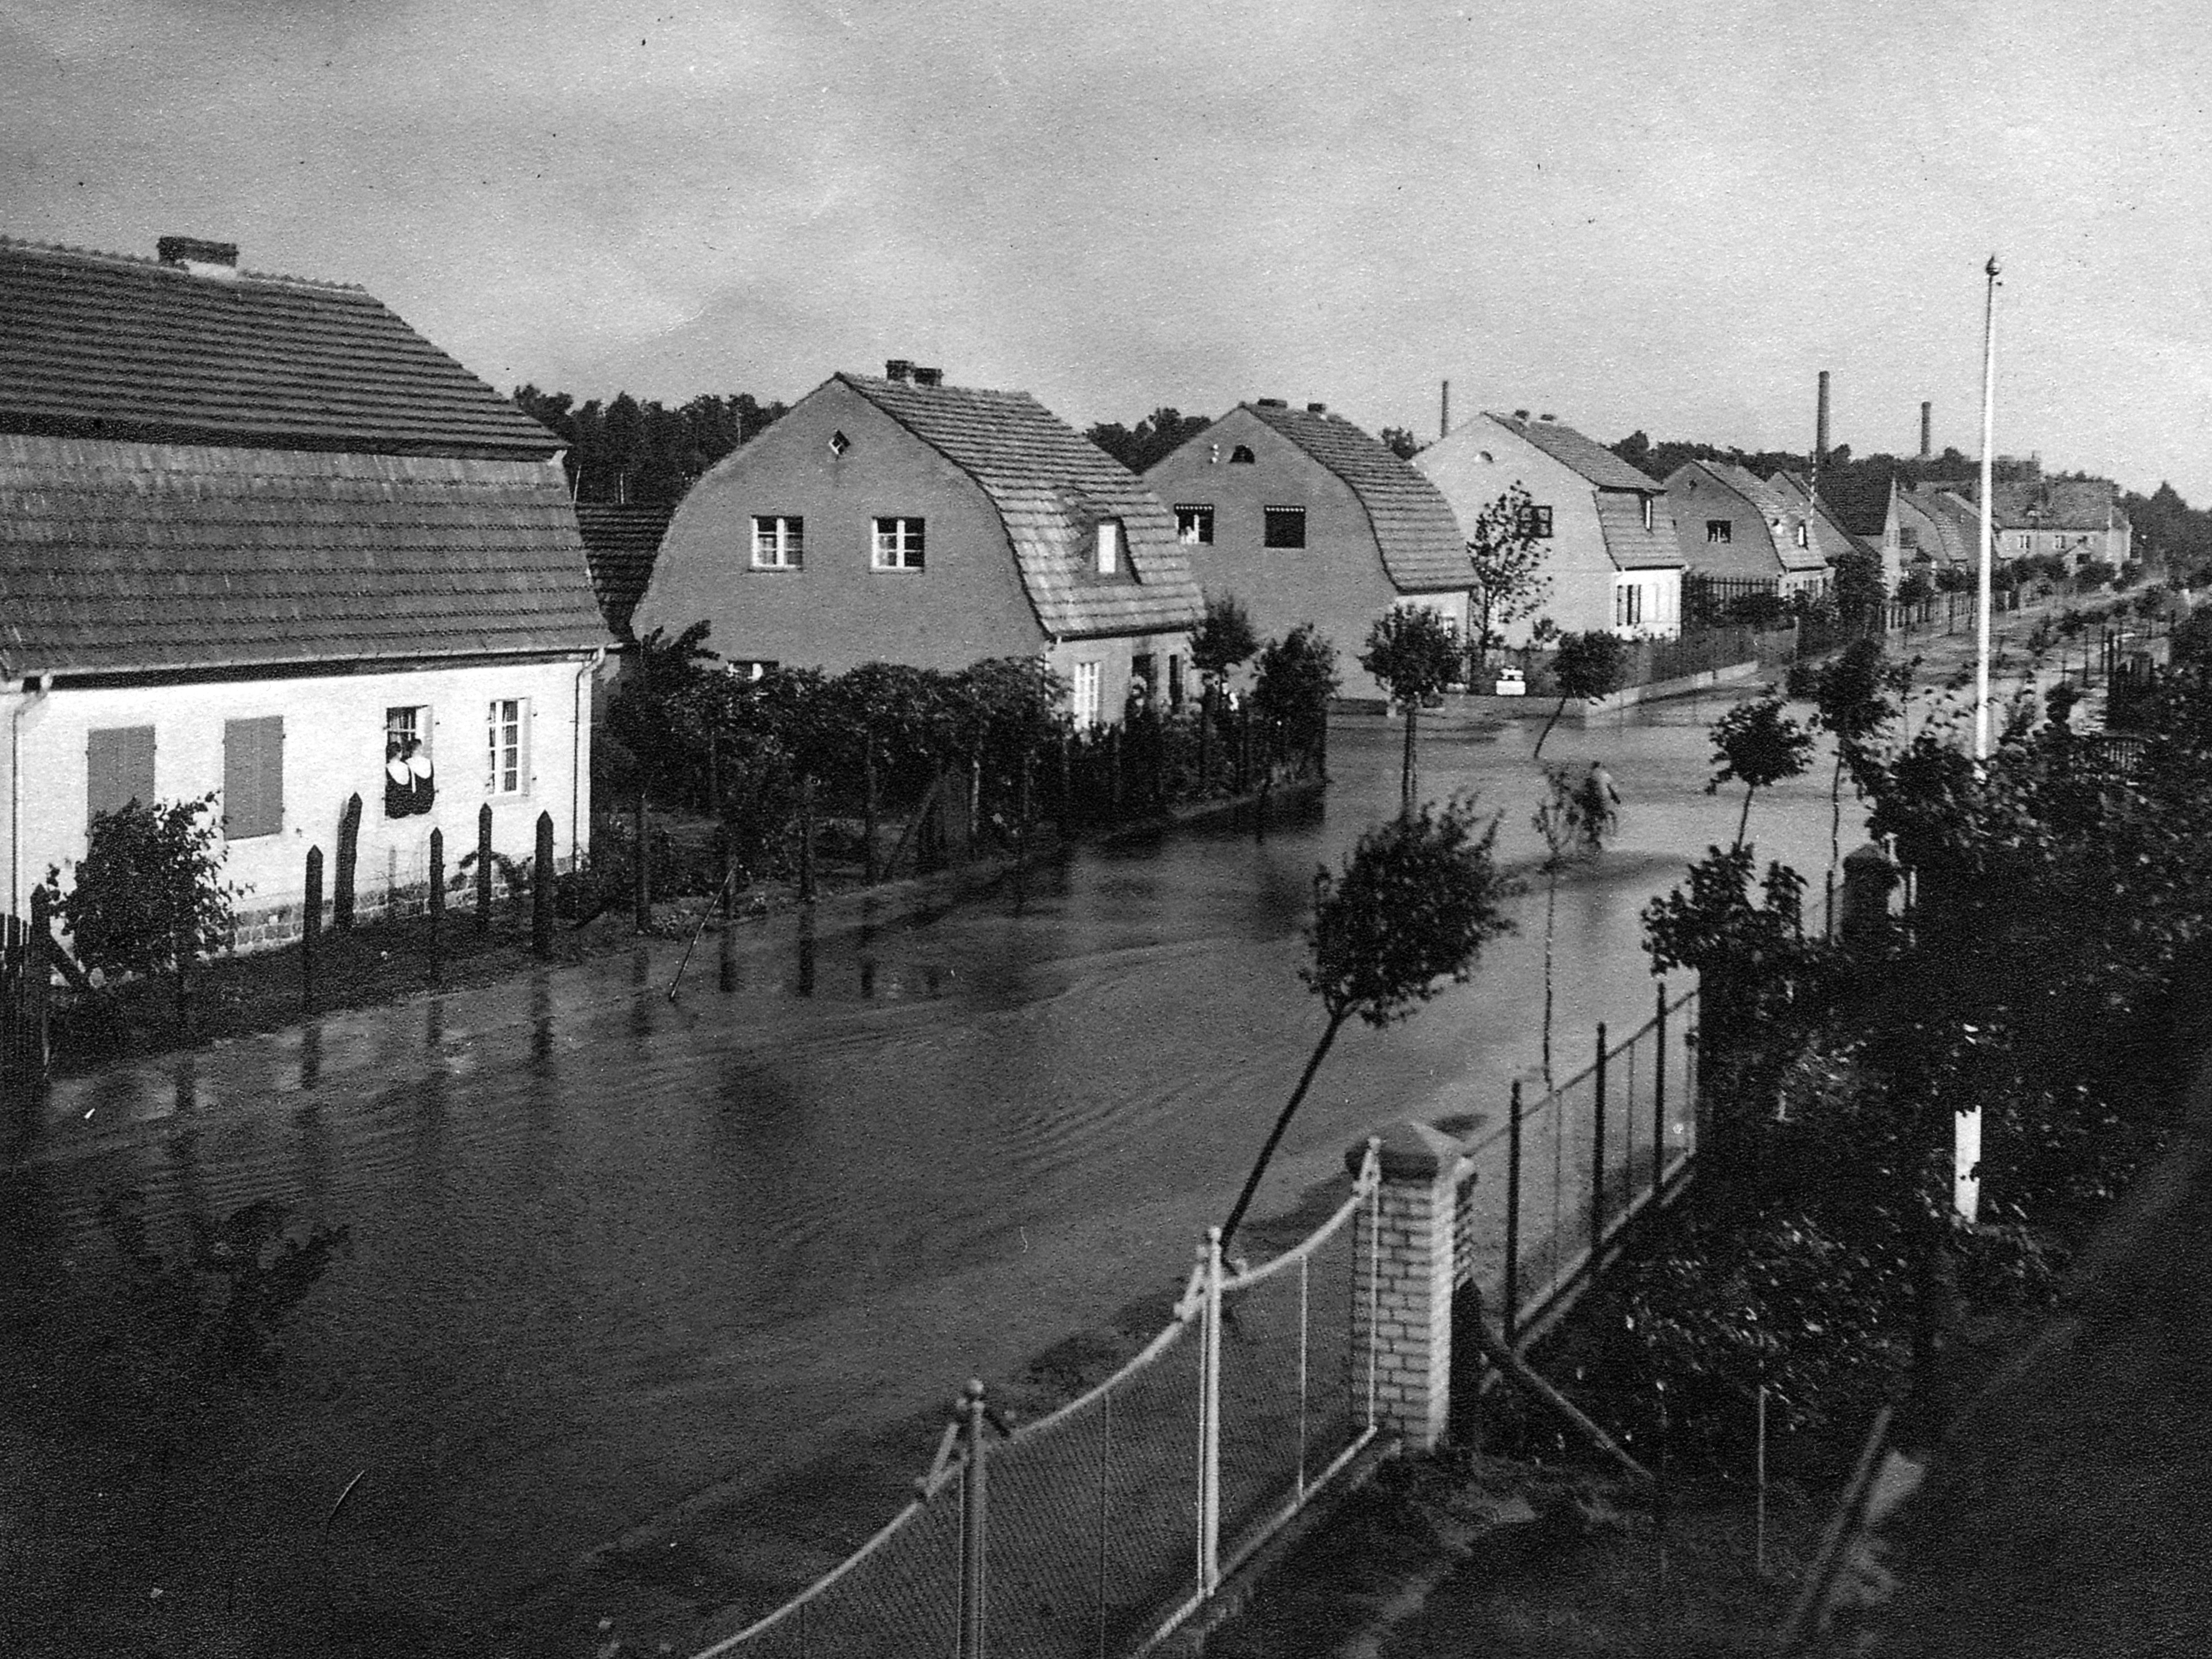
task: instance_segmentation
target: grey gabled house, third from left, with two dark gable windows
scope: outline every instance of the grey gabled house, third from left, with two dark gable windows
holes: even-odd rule
[[[1241,403],[1155,462],[1208,595],[1230,595],[1263,637],[1312,622],[1343,659],[1398,604],[1467,628],[1467,540],[1411,462],[1325,405]]]

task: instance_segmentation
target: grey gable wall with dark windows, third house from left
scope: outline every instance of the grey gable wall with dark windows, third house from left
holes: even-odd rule
[[[1237,445],[1250,445],[1250,465],[1230,462]],[[1210,460],[1214,451],[1219,460]],[[1336,646],[1338,661],[1352,664],[1367,630],[1400,599],[1352,487],[1248,409],[1221,416],[1144,482],[1168,511],[1214,509],[1212,546],[1186,546],[1190,571],[1208,597],[1239,599],[1263,639],[1312,622]],[[1267,507],[1305,509],[1303,549],[1261,546]],[[1464,591],[1402,597],[1467,626]],[[1356,677],[1352,666],[1347,688]]]

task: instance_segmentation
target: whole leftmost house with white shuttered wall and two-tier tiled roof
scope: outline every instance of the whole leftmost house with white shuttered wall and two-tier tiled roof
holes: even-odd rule
[[[482,805],[500,854],[551,812],[568,860],[606,637],[560,440],[374,296],[0,241],[13,911],[133,799],[217,796],[241,947],[299,929],[354,794],[361,911],[420,902]]]

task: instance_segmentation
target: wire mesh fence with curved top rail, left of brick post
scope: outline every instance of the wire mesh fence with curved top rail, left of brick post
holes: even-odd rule
[[[1374,1438],[1358,1334],[1374,1321],[1354,1307],[1376,1294],[1380,1186],[1369,1150],[1336,1214],[1259,1267],[1223,1263],[1212,1230],[1175,1321],[1037,1422],[1009,1433],[971,1385],[916,1500],[699,1659],[967,1659],[984,1644],[1117,1659],[1157,1641]]]

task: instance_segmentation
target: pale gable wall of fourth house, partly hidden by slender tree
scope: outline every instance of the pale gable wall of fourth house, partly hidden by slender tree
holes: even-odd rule
[[[1531,504],[1551,507],[1551,542],[1544,549],[1551,593],[1535,617],[1500,628],[1504,644],[1531,644],[1537,617],[1551,617],[1562,633],[1613,626],[1615,568],[1588,478],[1489,416],[1475,416],[1436,440],[1413,456],[1413,465],[1451,502],[1462,529],[1471,529],[1482,509],[1513,484],[1528,491]],[[1679,580],[1674,593],[1681,593]]]

